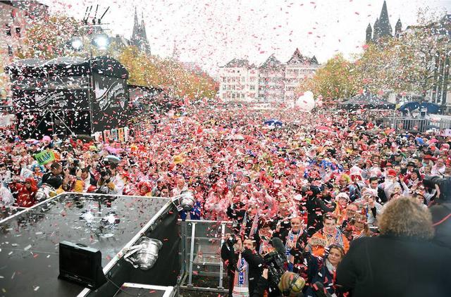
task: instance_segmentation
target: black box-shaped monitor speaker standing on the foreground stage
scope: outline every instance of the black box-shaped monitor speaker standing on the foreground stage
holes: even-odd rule
[[[75,282],[89,289],[99,288],[106,283],[101,267],[101,252],[82,244],[61,241],[58,279]]]

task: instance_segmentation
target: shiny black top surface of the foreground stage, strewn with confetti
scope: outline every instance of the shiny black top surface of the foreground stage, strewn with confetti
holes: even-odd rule
[[[82,286],[57,278],[59,242],[97,248],[105,267],[166,203],[167,198],[61,194],[1,222],[0,296],[77,296]]]

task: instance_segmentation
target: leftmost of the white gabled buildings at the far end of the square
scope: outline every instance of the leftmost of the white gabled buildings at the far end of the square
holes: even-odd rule
[[[245,59],[219,68],[219,97],[223,101],[253,101],[259,97],[259,69]]]

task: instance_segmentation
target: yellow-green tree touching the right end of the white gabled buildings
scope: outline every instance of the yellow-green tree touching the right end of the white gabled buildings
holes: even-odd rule
[[[313,91],[315,96],[323,96],[323,100],[350,98],[357,93],[352,67],[352,63],[340,53],[316,70],[314,77],[303,80],[297,91]]]

